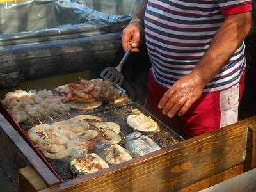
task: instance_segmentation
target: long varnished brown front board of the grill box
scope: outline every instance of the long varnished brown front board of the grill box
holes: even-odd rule
[[[46,191],[177,191],[244,163],[256,116]]]

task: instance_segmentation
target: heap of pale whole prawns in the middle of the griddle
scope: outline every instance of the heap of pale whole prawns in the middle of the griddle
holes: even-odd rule
[[[91,140],[95,139],[99,133],[96,130],[90,130],[86,120],[102,121],[97,116],[77,115],[51,125],[36,125],[29,129],[28,135],[41,148],[45,157],[62,159],[76,150],[88,152],[94,147],[95,143]],[[112,133],[115,134],[115,132]]]

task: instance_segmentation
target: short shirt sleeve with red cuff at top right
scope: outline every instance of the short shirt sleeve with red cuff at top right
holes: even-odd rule
[[[249,0],[218,0],[224,16],[252,11],[252,1]]]

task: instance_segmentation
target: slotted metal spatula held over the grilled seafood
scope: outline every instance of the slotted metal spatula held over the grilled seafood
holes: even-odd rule
[[[120,61],[118,66],[105,68],[101,72],[100,77],[113,82],[117,86],[121,86],[124,81],[124,76],[121,73],[122,67],[123,67],[125,61],[127,60],[127,58],[129,57],[129,55],[131,54],[131,50],[132,50],[132,48],[128,49],[127,52],[125,52],[124,58],[122,58],[122,60]]]

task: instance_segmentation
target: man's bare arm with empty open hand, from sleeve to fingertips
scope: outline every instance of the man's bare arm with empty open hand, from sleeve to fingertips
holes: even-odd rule
[[[241,45],[251,28],[251,13],[241,13],[226,17],[225,22],[212,40],[209,50],[191,74],[177,81],[168,90],[159,108],[172,118],[178,111],[182,116],[191,105],[202,95],[204,87],[227,63],[237,47]]]

